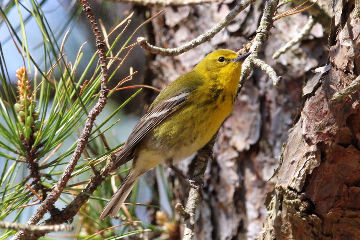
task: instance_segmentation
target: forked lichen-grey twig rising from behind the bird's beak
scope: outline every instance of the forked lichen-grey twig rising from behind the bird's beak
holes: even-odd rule
[[[279,0],[266,1],[264,14],[262,15],[260,21],[260,26],[257,28],[256,36],[253,40],[253,44],[250,47],[251,54],[246,58],[241,69],[239,89],[244,85],[246,78],[249,76],[249,74],[251,73],[252,69],[255,66],[255,62],[259,63],[256,59],[258,59],[259,53],[262,49],[262,46],[264,45],[264,42],[266,42],[266,40],[269,38],[270,29],[273,27],[273,23],[274,23],[273,16],[276,11],[276,6],[278,5],[278,3]],[[262,66],[265,68],[266,73],[272,73],[272,77],[270,78],[272,78],[274,86],[278,86],[280,82],[275,80],[280,80],[280,77],[276,76],[274,69],[272,69],[267,64]]]

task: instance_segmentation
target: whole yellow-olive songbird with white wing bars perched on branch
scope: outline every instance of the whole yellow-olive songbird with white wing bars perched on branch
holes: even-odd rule
[[[160,92],[116,156],[110,171],[134,161],[100,219],[116,216],[145,172],[161,163],[174,169],[173,163],[190,157],[211,140],[234,108],[241,64],[248,55],[228,49],[213,51]]]

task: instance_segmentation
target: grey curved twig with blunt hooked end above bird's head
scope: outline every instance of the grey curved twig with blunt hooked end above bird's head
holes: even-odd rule
[[[183,46],[176,48],[156,47],[149,44],[144,37],[138,38],[138,44],[145,50],[148,50],[150,53],[153,54],[158,54],[162,56],[177,56],[212,39],[212,37],[215,36],[216,33],[220,32],[224,27],[226,27],[242,10],[244,10],[248,5],[253,2],[255,2],[255,0],[242,0],[238,5],[235,6],[233,10],[231,10],[231,12],[224,18],[224,20],[219,22],[215,27],[211,28],[206,33],[198,36],[196,39],[184,44]]]

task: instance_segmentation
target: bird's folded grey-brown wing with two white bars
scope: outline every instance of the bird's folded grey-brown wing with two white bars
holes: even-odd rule
[[[121,153],[117,155],[111,171],[130,161],[135,145],[169,114],[183,105],[192,90],[194,89],[188,89],[187,91],[180,92],[180,94],[161,101],[155,106],[152,105],[150,110],[140,119],[140,122],[136,124],[130,133]]]

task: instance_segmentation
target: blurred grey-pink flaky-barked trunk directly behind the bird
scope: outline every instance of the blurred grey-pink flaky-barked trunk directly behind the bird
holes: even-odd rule
[[[194,39],[222,20],[235,2],[166,7],[164,15],[153,22],[155,45],[177,47]],[[174,58],[157,56],[150,63],[156,76],[153,85],[165,87],[215,49],[242,47],[256,33],[264,3],[252,4],[210,42]],[[159,9],[152,8],[152,13]],[[276,184],[276,179],[269,178],[278,167],[288,130],[302,109],[303,82],[314,75],[311,69],[324,65],[328,59],[328,39],[321,24],[315,24],[305,40],[278,60],[271,58],[307,21],[306,14],[296,14],[275,22],[260,58],[283,76],[282,85],[274,88],[259,69],[245,83],[233,113],[219,131],[215,158],[208,166],[202,188],[203,201],[196,211],[194,239],[255,239],[262,230],[267,217],[264,203],[271,200],[269,193]],[[179,168],[191,176],[194,161],[185,160]],[[188,196],[186,182],[177,181],[174,184],[177,200],[173,205],[186,202]]]

